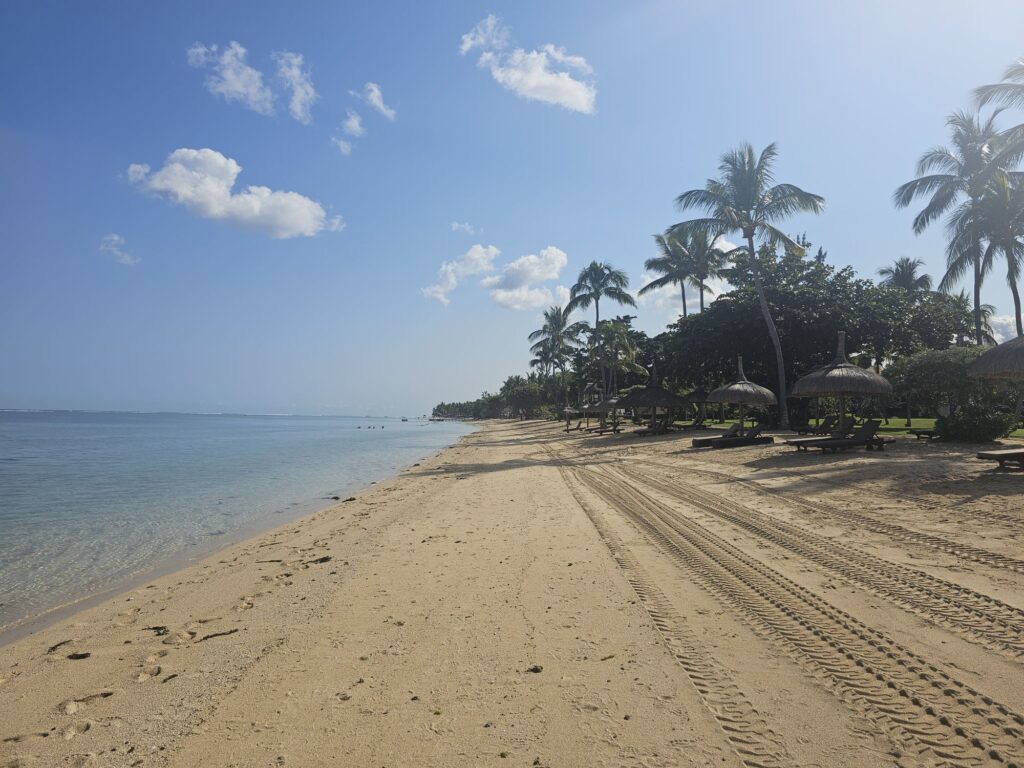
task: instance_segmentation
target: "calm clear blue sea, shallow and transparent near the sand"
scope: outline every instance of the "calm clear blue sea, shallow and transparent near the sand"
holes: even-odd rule
[[[348,417],[0,412],[0,632],[327,506],[470,431]]]

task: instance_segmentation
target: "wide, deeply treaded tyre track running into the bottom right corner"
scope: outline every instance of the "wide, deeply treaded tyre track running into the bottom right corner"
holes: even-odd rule
[[[750,557],[626,480],[573,471],[694,583],[823,679],[916,759],[1024,765],[1024,717]]]

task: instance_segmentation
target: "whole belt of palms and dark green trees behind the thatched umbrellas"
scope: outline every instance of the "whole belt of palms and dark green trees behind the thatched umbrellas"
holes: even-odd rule
[[[1004,82],[976,91],[977,109],[988,104],[1024,108],[1024,59]],[[923,153],[914,177],[893,195],[897,208],[921,204],[910,221],[914,232],[944,227],[945,268],[937,286],[922,258],[883,261],[872,280],[835,263],[820,247],[812,253],[806,234],[785,232],[782,222],[820,214],[824,199],[776,180],[774,143],[761,152],[743,143],[722,156],[715,177],[676,198],[679,210],[696,215],[654,236],[655,254],[644,262],[648,279],[636,296],[657,292],[680,301],[680,315],[663,333],[635,329],[635,315],[602,317],[602,303],[635,307],[637,301],[624,270],[592,261],[568,301],[546,310],[529,334],[528,375],[509,377],[497,393],[475,400],[441,403],[435,413],[557,418],[584,400],[645,384],[655,369],[657,382],[674,391],[709,390],[732,378],[741,354],[748,376],[780,395],[777,418],[785,427],[791,407],[807,408],[785,393],[829,361],[836,335],[845,331],[851,359],[895,386],[889,402],[861,408],[888,410],[907,423],[939,416],[944,433],[962,439],[1006,434],[1019,418],[1021,387],[967,376],[970,361],[995,342],[994,309],[983,303],[986,281],[1006,281],[1015,330],[1024,336],[1024,124],[1000,129],[1000,113],[953,113],[947,145]],[[728,240],[737,237],[739,246]],[[699,297],[696,308],[688,289]],[[592,318],[578,317],[591,306]]]

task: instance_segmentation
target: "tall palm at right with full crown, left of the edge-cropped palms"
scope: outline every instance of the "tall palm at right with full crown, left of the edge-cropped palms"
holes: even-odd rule
[[[1002,147],[1000,134],[995,129],[996,115],[998,112],[982,123],[979,115],[953,113],[946,121],[952,130],[951,146],[936,146],[922,155],[918,161],[918,178],[896,189],[893,202],[897,208],[906,208],[916,198],[929,197],[928,204],[913,218],[915,233],[924,231],[961,198],[966,198],[962,206],[977,206],[988,182],[999,172],[999,162],[1006,157],[999,152]],[[961,216],[965,221],[971,218],[964,211],[961,211]],[[981,344],[980,233],[965,233],[965,243],[969,248],[961,254],[961,258],[967,259],[973,270],[975,341]],[[943,283],[947,282],[943,280]]]

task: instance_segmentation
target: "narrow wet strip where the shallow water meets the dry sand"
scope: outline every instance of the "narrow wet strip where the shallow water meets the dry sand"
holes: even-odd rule
[[[131,413],[131,412],[116,412],[116,413]],[[202,416],[202,414],[185,414],[187,416]],[[338,418],[361,418],[361,417],[338,417]],[[462,420],[459,420],[462,421]],[[467,423],[462,421],[462,423]],[[474,429],[475,431],[475,429]],[[455,445],[458,445],[462,440],[464,440],[473,432],[469,432],[463,435],[458,440],[447,445],[444,445],[440,450],[430,454],[428,456],[420,457],[417,462],[423,462],[428,459],[435,459],[439,457],[444,452],[451,450]],[[360,485],[352,490],[343,492],[348,494],[349,497],[358,497],[366,494],[372,487],[380,485],[381,483],[388,482],[395,477],[397,477],[402,472],[408,471],[415,464],[407,464],[395,468],[390,473],[381,476],[377,480],[372,480],[365,485]],[[74,600],[61,603],[60,605],[55,605],[51,608],[36,613],[30,616],[25,616],[19,620],[15,620],[10,624],[0,627],[0,649],[5,646],[11,645],[19,640],[31,637],[32,635],[47,629],[61,621],[72,620],[77,613],[86,611],[97,605],[100,605],[108,600],[113,600],[118,596],[131,592],[137,589],[140,585],[145,582],[155,581],[168,575],[172,575],[178,571],[185,570],[187,568],[194,567],[198,564],[202,564],[204,560],[216,557],[224,550],[234,547],[245,542],[256,539],[263,536],[264,534],[272,532],[273,530],[284,527],[286,525],[293,525],[297,522],[301,522],[307,517],[312,517],[321,514],[329,509],[333,509],[344,501],[335,501],[331,499],[333,504],[323,504],[322,502],[328,501],[327,497],[308,500],[307,502],[292,502],[288,507],[278,512],[271,513],[272,516],[265,516],[263,518],[251,520],[238,528],[234,528],[222,536],[217,537],[216,542],[211,542],[212,546],[204,547],[202,545],[196,545],[189,548],[188,551],[179,552],[178,554],[164,560],[151,568],[144,570],[130,573],[125,577],[121,577],[116,580],[116,583],[111,585],[106,589],[102,589],[98,592],[93,592],[88,595],[83,595],[82,597],[76,598]],[[292,509],[292,506],[298,507],[297,509]]]

